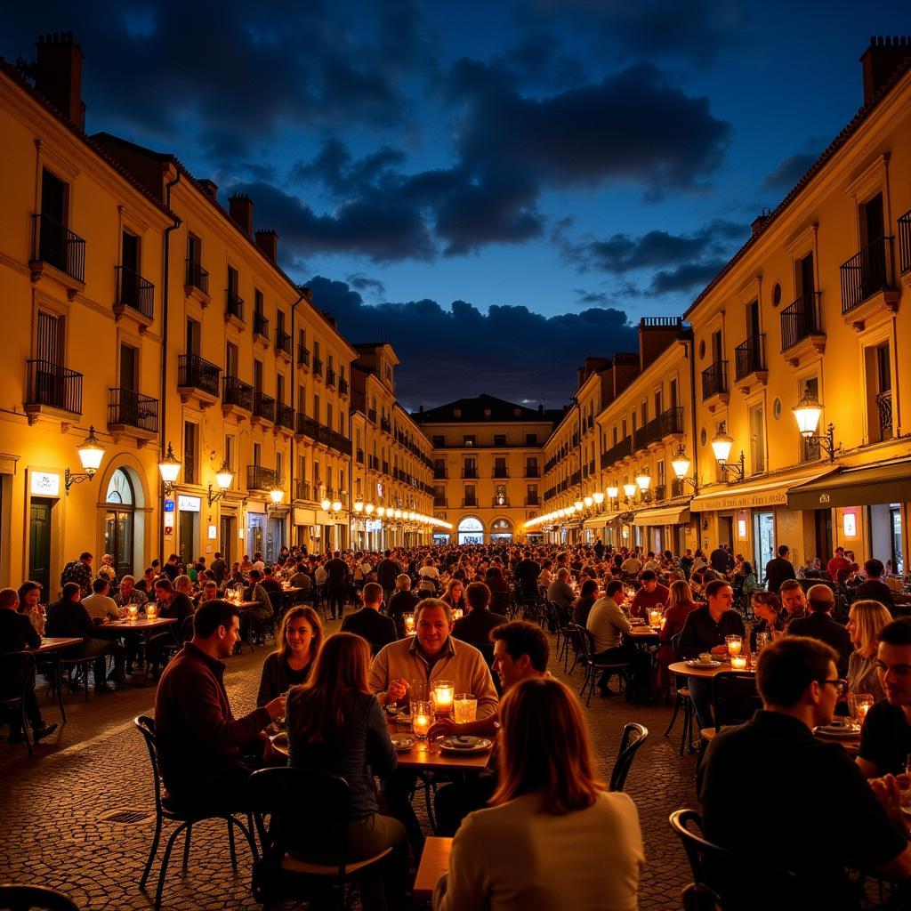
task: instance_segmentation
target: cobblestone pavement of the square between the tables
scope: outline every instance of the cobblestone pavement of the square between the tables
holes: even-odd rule
[[[337,622],[328,624],[336,630]],[[225,681],[237,714],[250,711],[267,650],[245,652],[230,660]],[[567,679],[556,660],[552,672]],[[137,678],[137,681],[139,678]],[[569,678],[581,683],[581,671]],[[78,906],[93,909],[145,909],[151,898],[138,892],[138,880],[154,831],[154,797],[148,753],[132,719],[151,714],[154,688],[149,686],[95,695],[67,693],[65,726],[36,748],[29,759],[24,744],[0,742],[0,881],[49,885]],[[46,721],[59,721],[56,702],[39,701]],[[696,806],[695,761],[678,755],[681,720],[670,738],[662,736],[670,707],[636,707],[622,699],[596,694],[587,710],[599,770],[608,778],[626,722],[641,722],[650,737],[630,771],[627,792],[639,807],[647,869],[640,887],[640,907],[678,908],[680,891],[689,881],[681,846],[670,832],[668,815],[681,806]],[[146,811],[138,824],[107,822],[118,810]],[[164,836],[169,834],[165,824]],[[250,857],[239,843],[239,870],[230,869],[224,824],[194,826],[189,870],[180,871],[179,851],[172,855],[163,908],[256,908],[250,894]],[[609,863],[610,845],[604,845]],[[160,849],[159,849],[160,856]],[[154,896],[153,869],[150,892]]]

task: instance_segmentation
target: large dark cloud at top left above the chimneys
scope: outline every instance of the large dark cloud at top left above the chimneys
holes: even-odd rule
[[[72,31],[86,54],[92,114],[177,139],[187,121],[217,161],[233,161],[283,125],[388,127],[411,113],[399,80],[432,61],[416,0],[368,7],[240,0],[85,5],[49,0],[0,14],[3,53],[33,56],[45,31]],[[367,20],[363,23],[362,20]],[[359,27],[355,27],[359,26]]]

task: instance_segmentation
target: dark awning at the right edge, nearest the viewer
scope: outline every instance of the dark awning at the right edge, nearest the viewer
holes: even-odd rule
[[[911,501],[911,458],[842,468],[788,491],[789,509],[872,507]]]

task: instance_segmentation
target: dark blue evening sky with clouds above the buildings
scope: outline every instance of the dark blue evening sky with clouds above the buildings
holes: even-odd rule
[[[679,314],[862,103],[904,2],[9,5],[86,54],[87,130],[255,203],[404,404],[557,407],[586,353]]]

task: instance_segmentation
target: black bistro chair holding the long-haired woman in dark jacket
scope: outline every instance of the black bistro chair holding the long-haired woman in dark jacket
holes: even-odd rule
[[[342,911],[348,884],[392,853],[386,848],[349,862],[348,783],[338,775],[290,767],[261,769],[250,781],[263,845],[262,858],[253,865],[253,897],[264,911],[311,896],[331,898],[332,904],[321,907]],[[265,814],[268,828],[262,824]],[[313,860],[305,859],[308,855]]]

